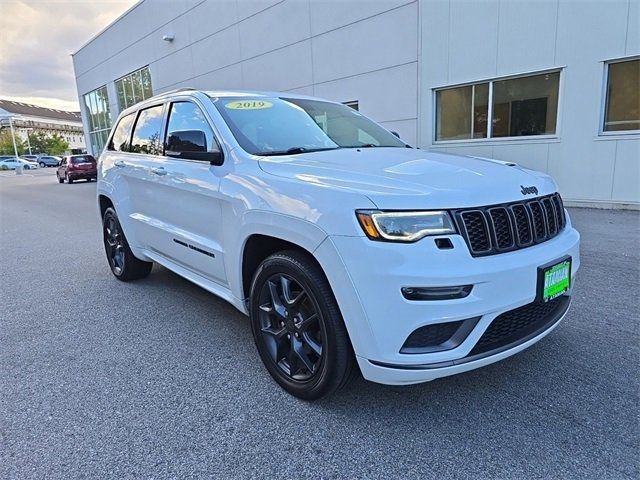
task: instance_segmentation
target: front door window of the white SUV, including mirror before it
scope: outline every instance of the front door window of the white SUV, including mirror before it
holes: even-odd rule
[[[165,150],[172,152],[167,155],[190,159],[198,159],[197,155],[190,155],[193,152],[219,151],[213,130],[196,104],[171,104]]]

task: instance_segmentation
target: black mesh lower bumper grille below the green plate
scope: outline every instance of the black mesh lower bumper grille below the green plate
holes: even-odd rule
[[[547,303],[529,303],[498,315],[482,334],[469,356],[508,346],[546,326],[551,326],[569,308],[569,301],[569,297],[562,296]]]

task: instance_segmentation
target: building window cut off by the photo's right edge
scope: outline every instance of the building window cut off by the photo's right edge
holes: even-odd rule
[[[640,130],[640,59],[607,64],[607,96],[602,130]]]

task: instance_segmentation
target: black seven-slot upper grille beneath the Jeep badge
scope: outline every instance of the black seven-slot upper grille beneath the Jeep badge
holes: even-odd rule
[[[555,237],[566,225],[557,193],[533,200],[454,211],[474,257],[525,248]]]

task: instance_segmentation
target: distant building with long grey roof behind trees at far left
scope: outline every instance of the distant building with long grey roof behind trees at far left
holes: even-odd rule
[[[60,135],[69,143],[70,151],[86,150],[80,112],[67,112],[0,99],[0,118],[6,116],[13,116],[13,127],[25,142],[28,133]],[[6,120],[3,121],[3,126],[6,126]]]

